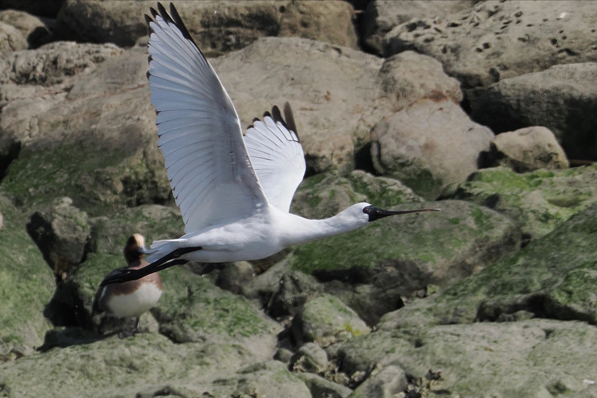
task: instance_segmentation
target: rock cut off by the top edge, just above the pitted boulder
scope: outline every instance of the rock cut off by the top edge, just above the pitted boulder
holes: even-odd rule
[[[470,0],[375,0],[369,2],[362,22],[362,41],[367,50],[383,55],[383,38],[393,27],[412,18],[445,17],[470,10]]]

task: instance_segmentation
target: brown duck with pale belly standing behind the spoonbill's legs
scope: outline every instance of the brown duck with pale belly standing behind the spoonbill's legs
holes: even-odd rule
[[[127,240],[124,247],[124,258],[128,267],[115,269],[106,277],[118,273],[119,270],[138,270],[146,266],[147,261],[143,260],[146,252],[143,235],[134,234]],[[96,297],[91,306],[91,316],[104,313],[107,317],[118,318],[118,329],[120,338],[134,335],[139,331],[139,317],[158,303],[162,295],[162,278],[158,273],[149,274],[141,279],[131,280],[124,283],[100,286],[97,289]],[[132,331],[122,331],[122,319],[136,318],[135,327]],[[101,320],[99,329],[103,326],[106,317]]]

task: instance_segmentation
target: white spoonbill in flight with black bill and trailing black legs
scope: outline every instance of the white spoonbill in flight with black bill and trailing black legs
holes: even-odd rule
[[[284,248],[354,230],[396,214],[356,203],[334,217],[290,214],[305,162],[288,103],[242,132],[236,110],[213,67],[170,4],[170,14],[145,16],[149,32],[149,87],[156,108],[158,146],[186,235],[156,240],[150,264],[106,277],[101,285],[140,279],[187,261],[259,260]]]

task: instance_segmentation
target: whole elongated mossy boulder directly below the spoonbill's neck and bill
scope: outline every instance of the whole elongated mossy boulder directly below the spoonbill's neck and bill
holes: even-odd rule
[[[442,212],[388,217],[352,232],[297,246],[291,263],[306,273],[346,280],[351,270],[393,267],[400,271],[405,269],[402,264],[410,261],[420,270],[420,282],[412,283],[411,288],[422,289],[429,283],[449,285],[517,246],[515,226],[497,212],[458,200],[418,203],[408,208],[429,207],[442,208]]]

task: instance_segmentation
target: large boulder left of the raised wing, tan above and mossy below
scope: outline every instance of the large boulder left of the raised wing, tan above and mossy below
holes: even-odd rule
[[[3,189],[25,203],[70,196],[86,211],[170,199],[146,61],[142,51],[119,55],[72,82],[67,95],[9,101],[0,128],[21,149]]]

